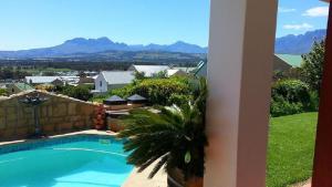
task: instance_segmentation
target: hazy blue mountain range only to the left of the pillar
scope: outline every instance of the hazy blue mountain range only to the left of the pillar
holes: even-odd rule
[[[20,51],[0,51],[1,59],[28,59],[28,58],[59,58],[73,56],[74,54],[93,54],[106,51],[123,52],[180,52],[180,53],[207,53],[207,48],[178,41],[169,45],[148,44],[148,45],[128,45],[125,43],[113,42],[108,38],[84,39],[75,38],[64,43],[51,48],[20,50]]]

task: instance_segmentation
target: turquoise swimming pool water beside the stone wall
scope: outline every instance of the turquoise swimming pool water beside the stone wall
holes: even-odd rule
[[[1,187],[121,187],[133,166],[110,136],[72,136],[0,146]]]

